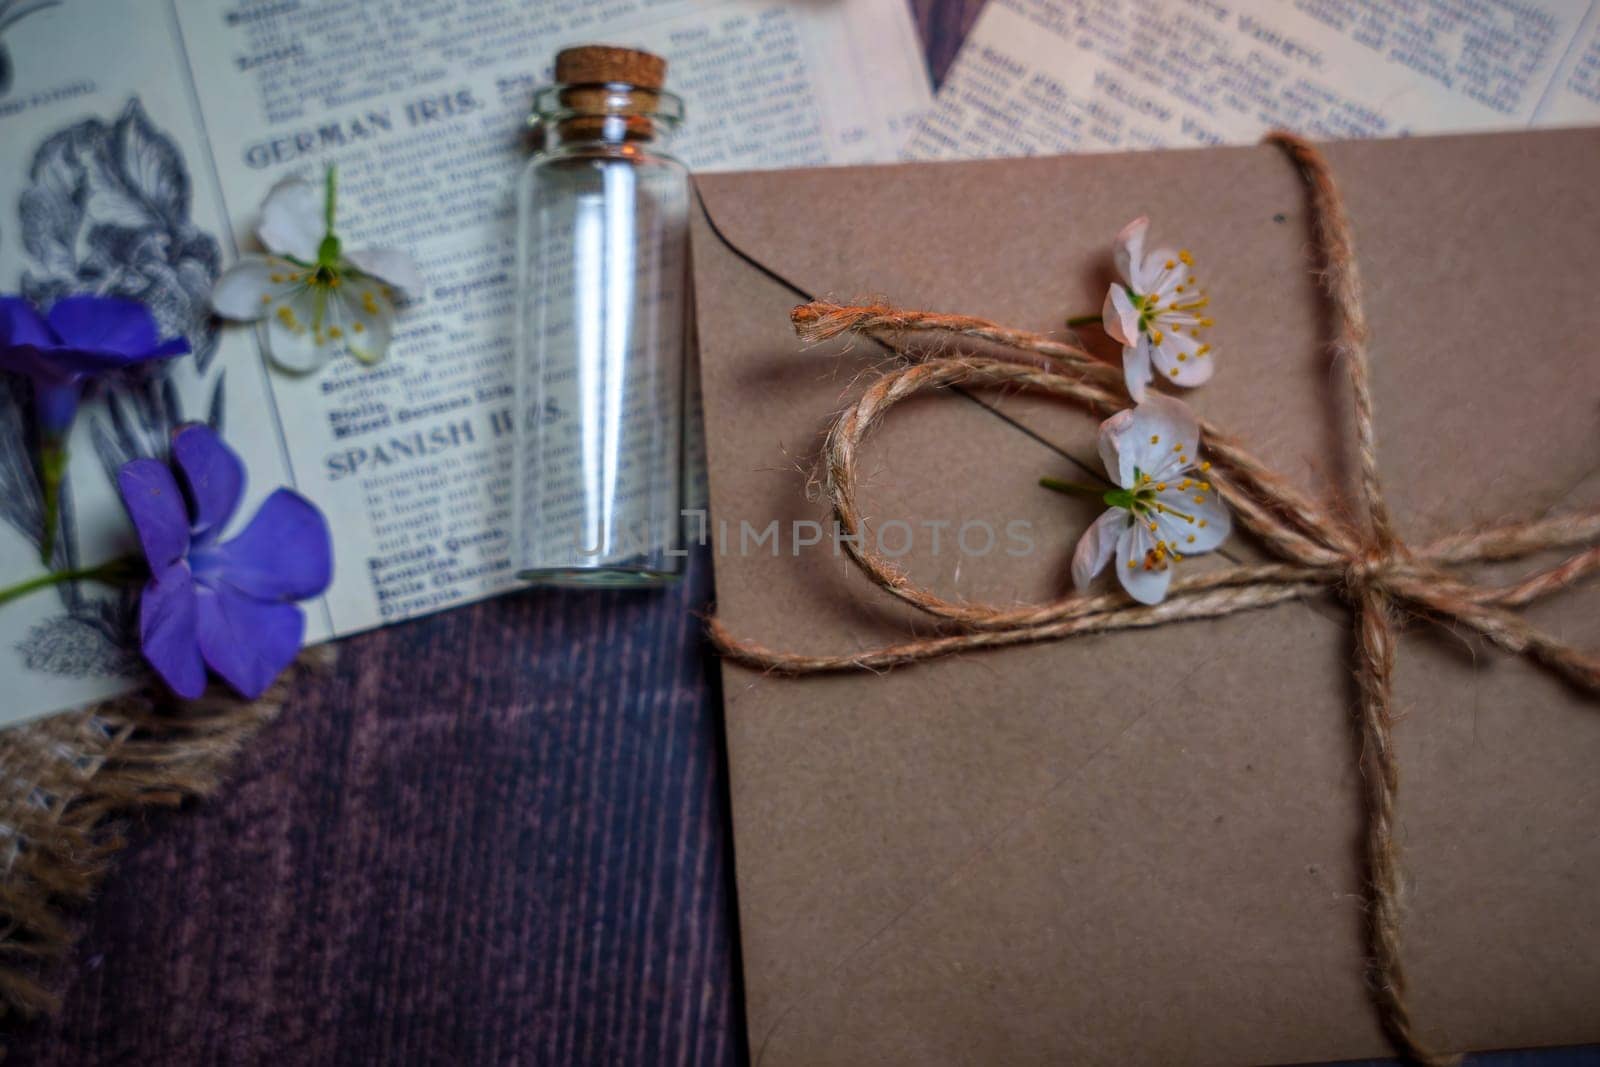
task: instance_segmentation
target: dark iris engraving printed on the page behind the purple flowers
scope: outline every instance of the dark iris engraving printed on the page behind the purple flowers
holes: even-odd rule
[[[38,5],[0,0],[13,22]],[[10,147],[10,146],[8,146]],[[106,478],[141,456],[165,458],[176,427],[203,419],[221,430],[226,406],[211,318],[211,286],[221,274],[216,237],[190,213],[192,181],[178,142],[138,98],[112,118],[80,118],[38,142],[18,198],[26,266],[21,294],[35,307],[93,294],[138,301],[155,315],[158,333],[182,334],[194,354],[181,358],[181,378],[168,368],[128,381],[104,382],[86,413],[88,438]],[[210,373],[208,373],[210,371]],[[187,392],[179,381],[198,376]],[[40,545],[43,496],[29,443],[37,438],[32,382],[0,374],[0,523]],[[80,565],[78,522],[72,480],[61,493],[61,518],[53,539],[53,566]],[[29,670],[64,677],[141,673],[138,597],[86,582],[56,587],[61,614],[35,624],[18,643]]]

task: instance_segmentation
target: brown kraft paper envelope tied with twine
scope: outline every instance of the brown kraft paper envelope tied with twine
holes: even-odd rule
[[[1328,157],[1403,536],[1592,506],[1600,131]],[[1216,378],[1184,398],[1304,488],[1349,482],[1306,195],[1275,149],[718,174],[699,192],[715,224],[696,221],[693,251],[717,608],[746,638],[834,653],[930,630],[827,541],[802,544],[806,520],[829,522],[806,493],[819,434],[888,357],[798,344],[795,288],[1058,330],[1099,309],[1112,237],[1149,214],[1155,243],[1194,251],[1216,318]],[[1037,478],[1082,482],[1074,462],[1098,472],[1094,456],[1094,421],[1061,403],[915,400],[869,442],[861,506],[914,581],[1048,600],[1099,506]],[[968,550],[952,545],[963,523]],[[1259,558],[1245,536],[1226,552]],[[1600,646],[1600,582],[1526,611]],[[1363,984],[1350,630],[1330,593],[882,675],[726,665],[754,1061],[1386,1054]],[[1446,1048],[1600,1040],[1600,705],[1411,621],[1395,707],[1419,1032]]]

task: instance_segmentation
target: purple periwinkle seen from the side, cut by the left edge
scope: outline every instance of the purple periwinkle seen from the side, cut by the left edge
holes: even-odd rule
[[[64,296],[40,315],[21,296],[0,296],[0,370],[26,374],[38,397],[46,438],[66,437],[88,379],[189,350],[162,341],[155,315],[115,296]]]

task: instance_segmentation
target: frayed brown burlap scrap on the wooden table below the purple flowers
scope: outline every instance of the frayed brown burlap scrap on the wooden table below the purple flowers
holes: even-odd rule
[[[0,733],[0,1016],[59,1008],[70,909],[126,845],[126,817],[213,792],[294,677],[331,661],[326,645],[301,653],[258,701],[141,691]]]

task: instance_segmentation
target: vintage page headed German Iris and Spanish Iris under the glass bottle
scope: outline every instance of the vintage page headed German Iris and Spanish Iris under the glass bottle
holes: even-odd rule
[[[565,45],[648,48],[688,109],[694,170],[893,158],[930,101],[902,0],[445,0],[341,5],[62,0],[0,48],[0,291],[133,296],[195,346],[165,384],[80,413],[72,560],[134,547],[117,467],[214,419],[250,469],[240,520],[278,485],[334,531],[322,640],[509,589],[510,184],[533,88]],[[866,42],[870,42],[870,56]],[[869,62],[870,59],[870,62]],[[387,363],[269,370],[248,326],[218,330],[211,283],[254,250],[262,195],[341,174],[347,248],[410,251],[427,294]],[[40,573],[29,389],[0,389],[0,584]],[[0,723],[142,678],[131,595],[59,585],[0,611]]]

